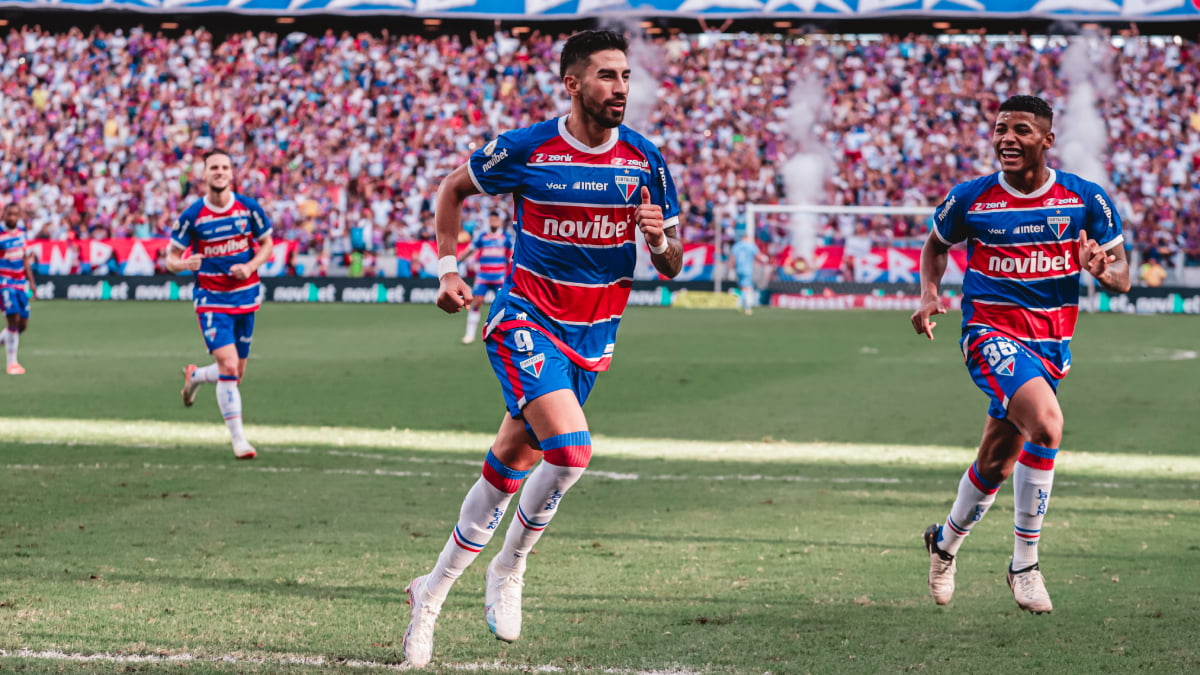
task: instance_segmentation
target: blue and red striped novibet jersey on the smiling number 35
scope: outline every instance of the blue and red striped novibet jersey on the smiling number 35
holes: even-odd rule
[[[1061,378],[1070,368],[1079,317],[1079,233],[1105,251],[1124,241],[1104,189],[1051,171],[1025,195],[995,173],[954,186],[934,216],[943,244],[967,243],[962,331],[996,330],[1021,341]]]

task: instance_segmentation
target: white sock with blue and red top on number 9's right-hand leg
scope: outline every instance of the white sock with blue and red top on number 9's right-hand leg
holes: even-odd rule
[[[504,548],[496,555],[496,565],[510,569],[524,569],[526,557],[558,513],[563,496],[583,476],[592,459],[592,436],[587,431],[560,434],[541,441],[541,448],[542,461],[526,479],[517,516],[509,524]]]

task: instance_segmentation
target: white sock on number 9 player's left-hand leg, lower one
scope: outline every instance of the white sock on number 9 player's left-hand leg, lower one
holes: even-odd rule
[[[431,601],[439,604],[445,601],[454,583],[492,540],[511,500],[510,492],[494,488],[485,477],[470,488],[458,510],[458,522],[425,580],[425,592]]]

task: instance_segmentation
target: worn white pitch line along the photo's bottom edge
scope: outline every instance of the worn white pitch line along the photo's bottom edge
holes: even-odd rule
[[[179,663],[220,663],[235,665],[239,663],[254,665],[301,665],[308,668],[354,668],[376,670],[416,670],[408,663],[382,663],[377,661],[325,658],[323,656],[290,656],[278,655],[271,657],[254,656],[199,656],[191,653],[149,655],[149,653],[67,653],[54,650],[34,651],[0,650],[0,658],[32,658],[44,661],[68,661],[74,663],[136,663],[169,665]],[[437,663],[433,664],[442,670],[458,670],[462,673],[604,673],[606,675],[700,675],[698,671],[683,668],[668,668],[666,670],[626,670],[620,668],[562,668],[558,665],[528,665],[506,664],[499,661],[491,663]]]

